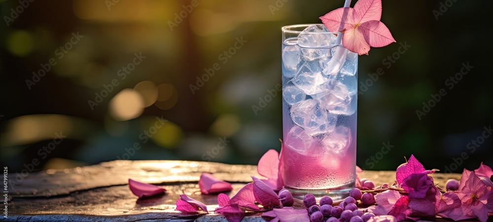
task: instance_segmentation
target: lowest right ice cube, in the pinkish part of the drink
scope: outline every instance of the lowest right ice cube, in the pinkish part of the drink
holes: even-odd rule
[[[338,126],[332,133],[322,139],[326,151],[336,157],[344,157],[352,142],[351,130],[348,127]]]

